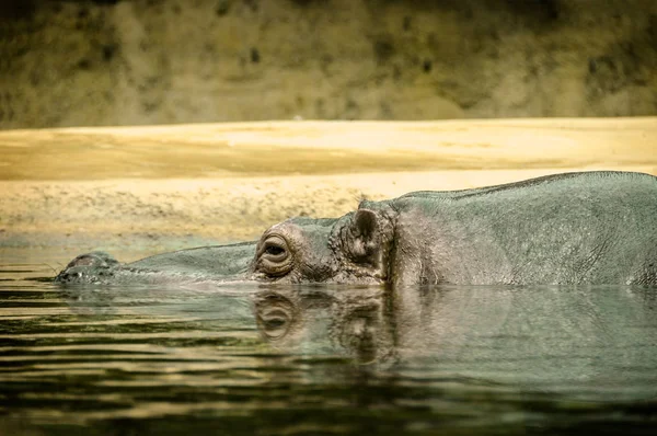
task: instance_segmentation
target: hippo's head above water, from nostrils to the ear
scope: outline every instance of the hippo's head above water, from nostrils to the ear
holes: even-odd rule
[[[270,227],[260,241],[181,250],[128,264],[93,252],[76,257],[55,280],[379,284],[389,275],[392,216],[390,206],[378,206],[337,219],[292,218]]]

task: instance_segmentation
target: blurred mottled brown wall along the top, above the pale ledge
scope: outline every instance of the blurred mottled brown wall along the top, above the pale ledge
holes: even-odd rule
[[[2,0],[0,128],[657,114],[654,0]]]

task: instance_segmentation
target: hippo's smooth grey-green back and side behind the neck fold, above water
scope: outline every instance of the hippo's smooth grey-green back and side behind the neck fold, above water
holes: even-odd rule
[[[657,177],[587,172],[390,203],[402,283],[657,282]]]

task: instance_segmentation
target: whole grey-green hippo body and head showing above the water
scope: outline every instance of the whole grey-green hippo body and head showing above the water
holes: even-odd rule
[[[257,242],[129,264],[95,252],[60,283],[657,284],[657,177],[550,175],[292,218]]]

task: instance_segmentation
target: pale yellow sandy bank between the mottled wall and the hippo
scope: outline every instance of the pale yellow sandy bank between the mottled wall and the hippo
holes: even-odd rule
[[[657,118],[13,130],[0,133],[0,246],[157,251],[253,239],[362,197],[566,171],[657,174]]]

